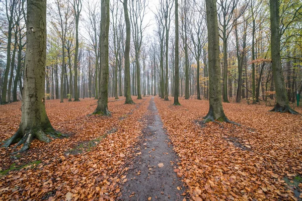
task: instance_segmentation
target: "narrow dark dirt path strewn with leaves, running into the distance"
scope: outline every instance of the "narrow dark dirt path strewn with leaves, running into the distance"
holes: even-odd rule
[[[163,129],[154,97],[145,119],[147,126],[120,200],[183,200],[185,188],[173,171],[178,157]]]

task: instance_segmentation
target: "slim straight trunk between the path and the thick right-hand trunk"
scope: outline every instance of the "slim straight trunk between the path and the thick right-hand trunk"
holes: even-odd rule
[[[178,32],[178,0],[175,0],[175,75],[174,75],[174,106],[180,106],[179,93],[179,32]]]

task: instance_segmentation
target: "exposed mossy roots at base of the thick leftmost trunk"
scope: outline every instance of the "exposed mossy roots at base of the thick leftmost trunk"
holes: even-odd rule
[[[35,128],[22,131],[22,127],[13,135],[10,139],[8,139],[4,143],[4,147],[8,148],[9,146],[16,144],[14,148],[23,145],[22,148],[18,152],[23,152],[29,149],[31,142],[36,138],[43,142],[51,142],[51,138],[59,138],[64,135],[55,131],[52,127],[48,127],[47,129]],[[48,137],[49,136],[49,137]]]

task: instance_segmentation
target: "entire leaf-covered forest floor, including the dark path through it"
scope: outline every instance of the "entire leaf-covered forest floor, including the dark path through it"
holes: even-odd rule
[[[89,116],[92,98],[47,100],[50,122],[68,138],[34,140],[18,154],[1,147],[0,200],[301,200],[301,115],[223,104],[242,126],[202,124],[205,100],[120,98],[108,103],[111,117]],[[17,131],[20,108],[0,106],[0,142]]]

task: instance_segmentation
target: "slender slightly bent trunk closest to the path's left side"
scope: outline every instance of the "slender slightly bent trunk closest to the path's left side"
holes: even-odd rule
[[[130,91],[130,21],[128,15],[128,8],[127,8],[127,0],[124,0],[123,7],[124,7],[124,15],[125,15],[125,24],[126,24],[126,44],[125,44],[125,104],[134,104],[131,98],[131,91]]]

